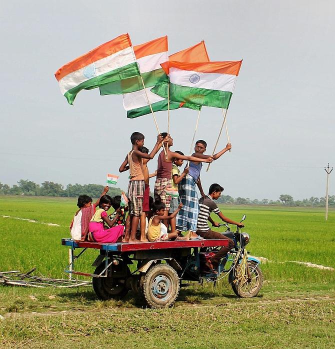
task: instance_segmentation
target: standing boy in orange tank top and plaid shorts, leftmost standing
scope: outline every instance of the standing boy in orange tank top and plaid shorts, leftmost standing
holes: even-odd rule
[[[144,135],[140,132],[133,132],[130,136],[132,148],[125,156],[125,159],[119,168],[120,172],[126,171],[127,169],[129,169],[130,172],[128,185],[129,214],[125,224],[125,235],[122,242],[140,242],[135,236],[139,217],[142,214],[143,205],[143,159],[152,159],[161,146],[162,140],[163,137],[158,134],[156,144],[152,151],[149,154],[145,154],[140,151],[141,147],[144,145]]]

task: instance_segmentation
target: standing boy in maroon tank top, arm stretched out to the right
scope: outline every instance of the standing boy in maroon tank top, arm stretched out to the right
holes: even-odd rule
[[[198,162],[211,162],[211,156],[206,158],[198,158],[194,156],[180,155],[177,152],[170,150],[170,146],[173,145],[173,138],[166,132],[162,132],[161,135],[164,137],[164,147],[166,147],[166,155],[163,150],[158,155],[158,166],[157,166],[157,176],[154,183],[154,199],[161,200],[165,204],[164,215],[168,215],[170,208],[170,197],[166,195],[166,188],[171,188],[171,170],[172,170],[172,159],[180,159],[187,161],[198,161]],[[168,227],[168,220],[162,220],[163,224]]]

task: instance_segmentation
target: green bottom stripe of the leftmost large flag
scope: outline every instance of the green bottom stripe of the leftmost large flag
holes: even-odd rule
[[[66,97],[68,103],[72,104],[76,94],[82,89],[92,89],[108,82],[119,84],[120,80],[128,79],[138,74],[139,70],[137,63],[130,63],[120,68],[108,71],[104,74],[94,76],[91,79],[86,80],[66,91],[64,96]],[[119,94],[121,93],[123,93],[123,91],[119,92]]]

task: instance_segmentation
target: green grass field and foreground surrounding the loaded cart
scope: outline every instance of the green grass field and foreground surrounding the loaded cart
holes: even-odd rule
[[[69,236],[75,203],[0,196],[0,271],[36,266],[45,276],[62,277],[67,248],[60,239]],[[1,286],[0,347],[335,347],[335,271],[291,262],[335,267],[334,209],[325,222],[320,208],[220,208],[234,220],[246,214],[248,249],[269,260],[261,264],[265,281],[257,297],[236,298],[222,279],[215,289],[210,283],[182,289],[171,309],[150,310],[132,292],[100,301],[90,287]],[[87,251],[76,268],[92,271],[97,253]]]

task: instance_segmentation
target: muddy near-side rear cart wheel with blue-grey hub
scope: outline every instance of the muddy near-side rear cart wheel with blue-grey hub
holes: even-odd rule
[[[156,264],[144,275],[141,290],[152,308],[172,306],[179,293],[179,277],[168,264]]]

